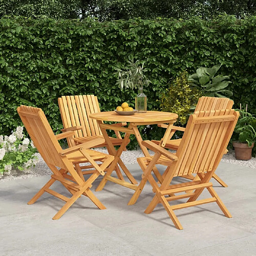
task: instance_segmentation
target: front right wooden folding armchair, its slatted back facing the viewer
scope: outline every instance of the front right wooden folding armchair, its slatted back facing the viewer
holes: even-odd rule
[[[150,150],[153,150],[155,155],[137,159],[143,170],[144,177],[128,204],[131,205],[137,201],[148,180],[153,187],[155,197],[146,208],[145,213],[150,214],[158,203],[162,203],[178,229],[183,228],[174,214],[174,210],[189,206],[216,202],[224,215],[231,218],[229,211],[209,181],[226,151],[238,117],[239,112],[234,110],[195,112],[189,117],[176,155],[152,141],[143,141],[142,143]],[[152,169],[155,164],[167,166],[166,175],[160,185],[152,176]],[[191,174],[197,174],[200,180],[170,185],[174,177],[183,177]],[[204,188],[207,188],[211,198],[197,200]],[[176,195],[186,191],[189,191],[189,193]],[[183,198],[189,199],[186,203],[172,206],[168,203],[169,201]]]

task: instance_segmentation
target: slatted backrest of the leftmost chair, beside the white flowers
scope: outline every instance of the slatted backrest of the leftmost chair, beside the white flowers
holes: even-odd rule
[[[61,146],[56,139],[45,113],[32,106],[21,105],[17,112],[38,152],[47,164],[66,169],[59,153]]]

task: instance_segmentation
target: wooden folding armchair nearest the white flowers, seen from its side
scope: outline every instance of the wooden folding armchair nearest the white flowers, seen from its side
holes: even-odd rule
[[[99,138],[97,141],[75,145],[72,141],[74,135],[72,131],[54,135],[41,109],[21,105],[17,112],[38,152],[53,172],[51,179],[28,204],[35,203],[45,192],[65,201],[66,204],[57,212],[53,220],[59,219],[81,195],[90,198],[99,209],[105,209],[105,206],[94,196],[90,188],[99,175],[104,175],[104,169],[109,167],[114,157],[88,149],[94,144],[102,143],[104,139]],[[63,138],[68,138],[71,143],[71,147],[66,150],[62,150],[58,143],[58,140]],[[102,164],[99,165],[96,161],[102,162]],[[90,167],[94,168],[91,170],[92,175],[88,180],[84,180],[79,163],[90,163]],[[56,180],[67,188],[72,195],[71,198],[50,189]]]

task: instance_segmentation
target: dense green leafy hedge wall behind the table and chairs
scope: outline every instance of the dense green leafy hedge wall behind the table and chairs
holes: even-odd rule
[[[137,92],[121,92],[115,86],[115,69],[124,68],[129,58],[144,61],[148,69],[149,110],[159,108],[161,91],[179,71],[193,73],[199,66],[222,63],[220,73],[230,75],[233,82],[229,89],[235,106],[248,103],[248,110],[256,113],[256,16],[103,23],[2,18],[0,134],[20,124],[20,104],[44,110],[57,131],[62,127],[57,104],[61,95],[95,94],[102,111],[123,101],[134,103]],[[146,131],[145,138],[162,135],[156,128]]]

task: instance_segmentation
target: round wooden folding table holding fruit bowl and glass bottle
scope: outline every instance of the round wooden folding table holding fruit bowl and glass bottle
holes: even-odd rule
[[[168,127],[166,129],[166,132],[164,134],[164,137],[162,139],[163,145],[168,140],[169,132],[172,130],[173,123],[176,122],[176,119],[178,118],[177,114],[169,113],[169,112],[160,112],[160,111],[147,111],[146,113],[135,113],[134,115],[130,116],[123,116],[117,114],[115,111],[109,111],[109,112],[98,112],[90,115],[90,118],[97,120],[97,123],[99,124],[100,130],[105,138],[106,143],[108,143],[110,154],[115,156],[115,160],[112,162],[111,166],[108,169],[108,172],[106,172],[105,176],[103,177],[102,181],[100,182],[99,186],[96,188],[96,191],[102,190],[104,185],[106,184],[106,181],[112,181],[117,184],[120,184],[125,187],[132,188],[136,190],[137,181],[134,179],[132,174],[129,172],[129,170],[126,168],[122,160],[120,159],[120,156],[126,147],[126,145],[129,143],[129,138],[131,134],[134,134],[140,147],[145,155],[145,157],[149,157],[150,154],[147,151],[147,148],[141,144],[142,138],[138,130],[138,125],[148,125],[148,124],[162,124],[162,123],[168,123]],[[103,121],[113,121],[113,122],[129,122],[128,127],[120,127],[120,126],[111,126],[110,124],[105,124]],[[118,150],[115,150],[115,147],[113,143],[111,142],[108,133],[106,130],[114,130],[125,133],[123,143],[120,145]],[[131,183],[126,182],[124,180],[120,180],[114,177],[111,177],[111,173],[115,169],[115,166],[117,163],[122,168],[123,172],[129,178]],[[157,173],[158,170],[155,168],[155,172]]]

